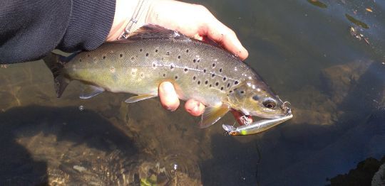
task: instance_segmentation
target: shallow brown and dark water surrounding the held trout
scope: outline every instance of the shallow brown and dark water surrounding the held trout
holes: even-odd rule
[[[255,136],[126,94],[61,99],[43,62],[0,68],[0,185],[327,185],[385,155],[384,1],[190,1],[249,50],[294,118]],[[369,9],[369,10],[367,10]],[[353,28],[353,29],[352,29]]]

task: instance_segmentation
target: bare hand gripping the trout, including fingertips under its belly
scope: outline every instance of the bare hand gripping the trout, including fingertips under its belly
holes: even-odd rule
[[[116,1],[116,18],[114,18],[113,28],[111,28],[107,41],[116,40],[123,33],[124,23],[132,15],[131,13],[127,17],[128,14],[125,13],[127,11],[122,11],[119,8],[119,6],[132,6],[127,1],[122,1]],[[179,31],[198,40],[205,40],[205,37],[210,38],[242,60],[245,60],[248,55],[247,50],[243,48],[235,32],[218,21],[210,11],[201,5],[170,0],[153,1],[149,6],[145,22],[137,23],[136,27],[143,26],[145,23]],[[159,97],[163,107],[170,111],[177,109],[180,104],[178,95],[173,84],[170,82],[160,84]],[[205,106],[200,102],[190,99],[185,103],[185,109],[193,116],[199,116],[203,113]]]

